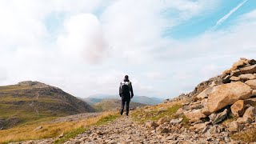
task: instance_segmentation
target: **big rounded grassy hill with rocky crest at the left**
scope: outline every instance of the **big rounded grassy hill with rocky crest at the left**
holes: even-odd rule
[[[0,86],[0,130],[42,118],[94,112],[86,102],[41,82]]]

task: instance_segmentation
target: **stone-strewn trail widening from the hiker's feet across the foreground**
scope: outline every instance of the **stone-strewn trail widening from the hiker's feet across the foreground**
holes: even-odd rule
[[[169,126],[169,129],[165,129],[165,126]],[[76,138],[65,142],[65,144],[238,143],[230,139],[226,132],[217,130],[220,129],[214,127],[211,129],[212,132],[198,134],[183,128],[179,129],[177,126],[172,126],[167,122],[156,128],[154,123],[139,124],[130,117],[122,116],[122,118],[118,118],[106,125],[93,126],[84,134],[79,134]]]

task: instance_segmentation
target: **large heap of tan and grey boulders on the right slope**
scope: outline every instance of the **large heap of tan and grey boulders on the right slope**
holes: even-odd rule
[[[256,61],[241,58],[222,75],[173,99],[177,100],[186,101],[176,114],[190,119],[190,130],[211,135],[222,130],[228,134],[246,130],[256,119]],[[232,117],[220,128],[220,123]]]

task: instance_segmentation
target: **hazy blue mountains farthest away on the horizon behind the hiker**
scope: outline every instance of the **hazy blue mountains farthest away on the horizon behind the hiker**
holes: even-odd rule
[[[109,94],[95,94],[95,95],[91,95],[88,98],[82,98],[82,100],[84,100],[87,103],[90,103],[90,105],[93,105],[96,102],[101,102],[104,99],[118,99],[120,98],[119,95],[109,95]],[[135,95],[134,98],[131,99],[131,102],[138,102],[138,103],[142,103],[145,105],[157,105],[158,103],[163,102],[164,99],[162,98],[150,98],[150,97],[146,97],[146,96],[138,96]]]

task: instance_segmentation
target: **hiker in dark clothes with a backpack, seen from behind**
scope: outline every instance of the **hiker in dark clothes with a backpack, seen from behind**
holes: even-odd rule
[[[131,82],[129,80],[128,75],[125,76],[125,79],[121,82],[119,86],[119,95],[122,97],[122,107],[120,114],[123,114],[123,110],[126,104],[126,115],[129,114],[129,105],[130,105],[130,98],[134,97],[133,86],[131,86]]]

